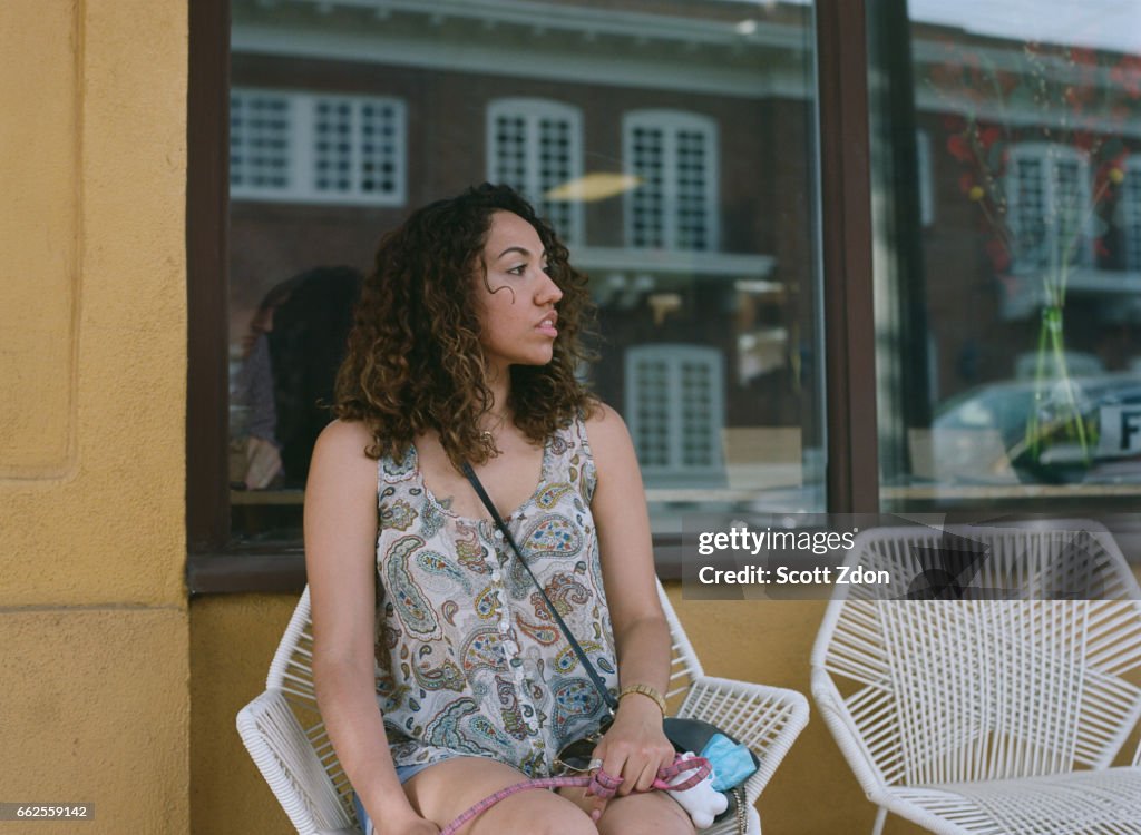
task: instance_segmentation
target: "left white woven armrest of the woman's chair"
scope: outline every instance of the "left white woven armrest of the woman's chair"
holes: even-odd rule
[[[243,707],[237,732],[299,833],[359,833],[281,690],[266,690]]]

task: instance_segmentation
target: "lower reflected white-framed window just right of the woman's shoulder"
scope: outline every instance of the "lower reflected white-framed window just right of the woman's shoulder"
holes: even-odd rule
[[[626,349],[625,418],[648,486],[725,478],[722,366],[706,346]]]

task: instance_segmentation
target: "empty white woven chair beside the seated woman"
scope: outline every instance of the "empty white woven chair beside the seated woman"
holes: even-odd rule
[[[1141,833],[1141,748],[1110,768],[1141,718],[1141,593],[1114,538],[950,533],[861,532],[845,565],[892,584],[837,585],[812,650],[874,833],[889,811],[947,835]]]

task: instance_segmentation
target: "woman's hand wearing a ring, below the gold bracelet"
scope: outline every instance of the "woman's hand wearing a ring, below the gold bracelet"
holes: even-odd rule
[[[672,763],[673,757],[673,746],[662,730],[662,712],[653,700],[641,696],[622,700],[614,724],[594,748],[594,759],[602,761],[602,770],[622,778],[618,795],[648,791],[658,770]],[[606,802],[601,801],[597,804],[601,810]]]

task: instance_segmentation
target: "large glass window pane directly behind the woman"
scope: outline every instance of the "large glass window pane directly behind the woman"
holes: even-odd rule
[[[812,7],[232,0],[230,505],[299,536],[380,235],[484,179],[590,275],[652,521],[823,510]]]

